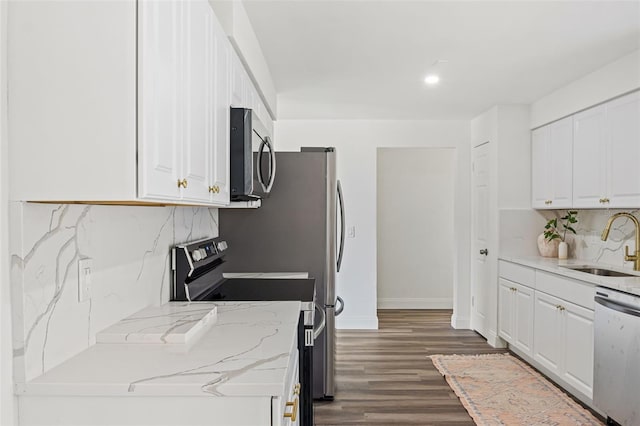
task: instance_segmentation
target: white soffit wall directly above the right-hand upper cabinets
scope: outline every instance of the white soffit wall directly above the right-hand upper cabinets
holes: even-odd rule
[[[640,88],[640,50],[618,59],[531,104],[531,128]]]

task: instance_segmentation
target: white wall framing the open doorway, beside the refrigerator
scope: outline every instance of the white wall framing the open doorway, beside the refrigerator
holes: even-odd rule
[[[469,123],[468,121],[280,120],[275,137],[279,150],[300,146],[334,146],[342,181],[347,239],[338,294],[345,310],[339,328],[377,328],[376,151],[385,147],[455,148],[454,315],[458,328],[469,325]]]

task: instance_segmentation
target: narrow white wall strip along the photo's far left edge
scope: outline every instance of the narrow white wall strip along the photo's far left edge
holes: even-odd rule
[[[13,396],[8,236],[7,2],[0,1],[0,425],[17,423]]]

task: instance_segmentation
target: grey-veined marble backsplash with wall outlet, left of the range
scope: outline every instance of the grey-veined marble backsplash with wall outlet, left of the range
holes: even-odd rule
[[[169,300],[169,248],[218,235],[204,207],[10,205],[14,375],[28,381],[95,343],[96,333]],[[78,260],[92,259],[78,301]]]

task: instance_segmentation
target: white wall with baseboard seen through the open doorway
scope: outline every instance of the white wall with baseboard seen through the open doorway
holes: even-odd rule
[[[453,307],[453,148],[378,148],[378,308]]]

